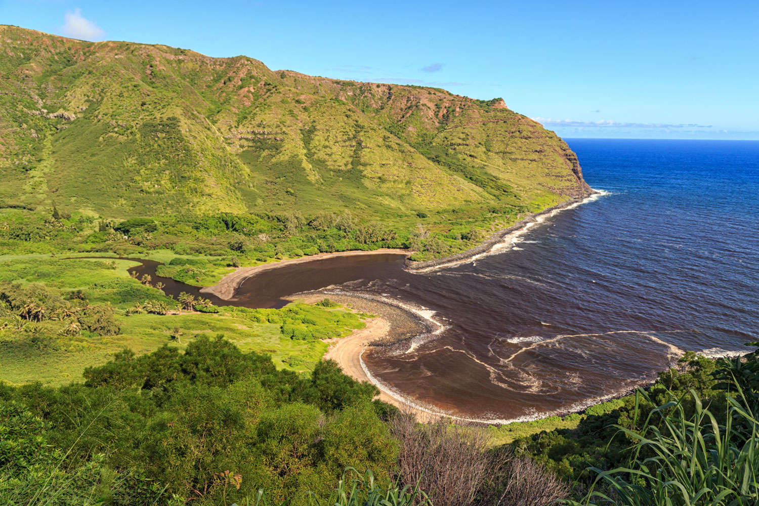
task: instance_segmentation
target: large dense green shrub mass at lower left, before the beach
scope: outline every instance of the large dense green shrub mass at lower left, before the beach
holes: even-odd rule
[[[23,423],[34,433],[47,430],[55,448],[71,448],[68,467],[105,454],[114,469],[144,470],[168,498],[221,504],[219,473],[230,470],[241,487],[226,490],[228,504],[261,487],[272,499],[305,504],[308,491],[329,496],[346,466],[372,468],[387,480],[395,461],[397,447],[371,402],[376,388],[342,375],[335,363],[300,376],[278,371],[266,355],[201,337],[184,353],[124,351],[84,376],[85,384],[62,388],[0,385],[0,413],[38,420]],[[44,444],[17,457],[33,460]]]

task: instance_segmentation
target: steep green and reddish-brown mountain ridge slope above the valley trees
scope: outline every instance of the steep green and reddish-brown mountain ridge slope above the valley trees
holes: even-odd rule
[[[0,205],[103,218],[538,211],[577,157],[502,99],[0,26]]]

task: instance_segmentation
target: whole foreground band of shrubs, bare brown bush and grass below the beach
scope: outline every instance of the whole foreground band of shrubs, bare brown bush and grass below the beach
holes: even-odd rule
[[[83,383],[0,385],[0,499],[547,506],[572,483],[565,504],[756,504],[757,357],[691,355],[577,429],[491,448],[487,430],[420,425],[372,401],[373,385],[332,362],[278,370],[218,337],[123,350]]]

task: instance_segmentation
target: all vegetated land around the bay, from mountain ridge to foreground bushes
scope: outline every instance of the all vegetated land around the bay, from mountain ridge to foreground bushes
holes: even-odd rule
[[[584,413],[417,424],[321,360],[370,315],[175,300],[128,273],[154,259],[203,286],[320,252],[431,259],[584,195],[575,154],[502,100],[0,35],[3,504],[759,501],[757,352],[686,354]]]

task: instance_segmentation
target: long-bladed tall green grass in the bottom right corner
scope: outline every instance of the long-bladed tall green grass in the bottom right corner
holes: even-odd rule
[[[754,506],[759,504],[759,420],[739,383],[726,413],[704,407],[690,391],[694,413],[684,399],[657,407],[640,431],[617,426],[635,442],[627,467],[602,471],[582,502],[619,506]],[[647,401],[645,392],[640,393]],[[660,416],[660,423],[652,418]]]

